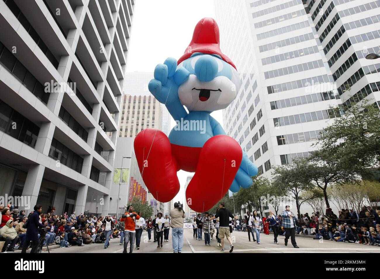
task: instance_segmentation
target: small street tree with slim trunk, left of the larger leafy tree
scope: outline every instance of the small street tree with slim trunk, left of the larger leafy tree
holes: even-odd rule
[[[315,186],[311,183],[307,172],[310,169],[310,164],[307,159],[294,158],[293,164],[276,166],[273,168],[273,183],[279,185],[284,193],[291,193],[296,201],[298,218],[300,218],[301,203],[308,199],[301,199],[303,191],[311,191]]]

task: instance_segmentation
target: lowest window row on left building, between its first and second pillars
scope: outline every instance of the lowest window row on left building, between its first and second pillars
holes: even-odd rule
[[[49,157],[59,160],[61,164],[76,172],[82,172],[83,158],[54,138],[51,141]]]

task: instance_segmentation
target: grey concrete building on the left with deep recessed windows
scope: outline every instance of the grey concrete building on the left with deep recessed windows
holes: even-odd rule
[[[1,195],[108,213],[134,4],[0,1]]]

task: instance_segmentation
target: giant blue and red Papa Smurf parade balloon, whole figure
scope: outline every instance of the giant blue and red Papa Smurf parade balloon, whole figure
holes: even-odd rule
[[[235,65],[220,50],[219,28],[212,18],[198,22],[178,61],[167,58],[156,66],[149,91],[177,125],[169,137],[144,129],[134,142],[142,179],[155,199],[168,202],[176,196],[178,170],[195,172],[186,201],[196,212],[209,210],[228,189],[237,192],[252,185],[257,167],[210,115],[233,102],[239,83]]]

